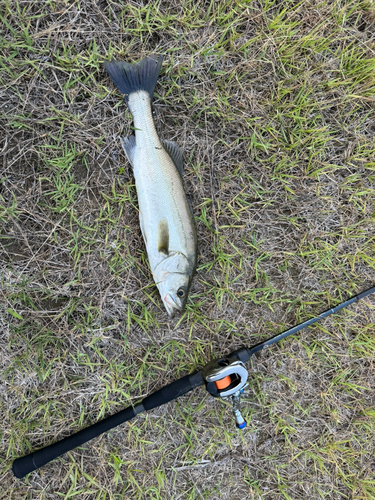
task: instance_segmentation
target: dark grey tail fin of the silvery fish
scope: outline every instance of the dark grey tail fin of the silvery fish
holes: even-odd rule
[[[104,63],[104,66],[128,104],[129,95],[139,90],[148,92],[152,99],[162,62],[162,55],[152,55],[134,64],[125,61],[109,61]]]

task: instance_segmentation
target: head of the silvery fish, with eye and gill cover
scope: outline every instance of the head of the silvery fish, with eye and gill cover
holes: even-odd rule
[[[186,305],[194,269],[180,253],[168,256],[162,264],[156,284],[168,315],[173,317]]]

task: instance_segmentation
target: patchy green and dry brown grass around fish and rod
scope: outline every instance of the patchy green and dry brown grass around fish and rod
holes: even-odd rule
[[[243,433],[196,390],[23,480],[10,470],[372,286],[373,2],[7,0],[0,19],[0,498],[373,499],[371,296],[252,360]],[[103,66],[152,52],[199,242],[173,321]]]

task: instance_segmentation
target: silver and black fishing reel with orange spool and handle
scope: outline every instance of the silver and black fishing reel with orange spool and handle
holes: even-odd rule
[[[214,359],[202,369],[202,375],[212,396],[231,402],[236,427],[244,429],[247,423],[239,410],[240,396],[248,385],[244,363],[236,358]]]

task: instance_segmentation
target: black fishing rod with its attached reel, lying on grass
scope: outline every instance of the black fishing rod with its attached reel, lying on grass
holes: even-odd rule
[[[302,328],[311,326],[317,321],[320,321],[331,314],[337,313],[340,309],[348,307],[350,304],[358,302],[358,300],[363,299],[364,297],[367,297],[367,295],[374,292],[375,286],[345,302],[342,302],[336,307],[319,314],[315,318],[304,321],[303,323],[300,323],[283,333],[279,333],[278,335],[271,337],[265,342],[261,342],[260,344],[250,348],[242,347],[241,349],[231,352],[227,356],[214,359],[201,370],[190,375],[185,375],[171,384],[166,385],[153,394],[150,394],[150,396],[147,396],[135,406],[125,408],[124,410],[97,422],[96,424],[90,425],[89,427],[62,439],[61,441],[45,446],[44,448],[25,455],[24,457],[17,458],[14,460],[12,465],[14,475],[18,478],[22,478],[26,476],[26,474],[29,474],[42,465],[47,464],[60,455],[63,455],[64,453],[83,445],[87,441],[90,441],[94,437],[97,437],[100,434],[127,422],[128,420],[131,420],[139,413],[152,410],[153,408],[157,408],[158,406],[162,406],[170,401],[173,401],[179,396],[192,391],[200,385],[205,385],[206,390],[212,396],[230,401],[232,404],[233,415],[236,420],[236,426],[239,429],[244,429],[246,427],[246,421],[241,415],[239,406],[240,396],[245,387],[248,385],[248,371],[245,367],[245,363],[249,361],[251,356],[256,352],[269,347],[275,342],[279,342],[289,335],[297,333],[302,330]]]

